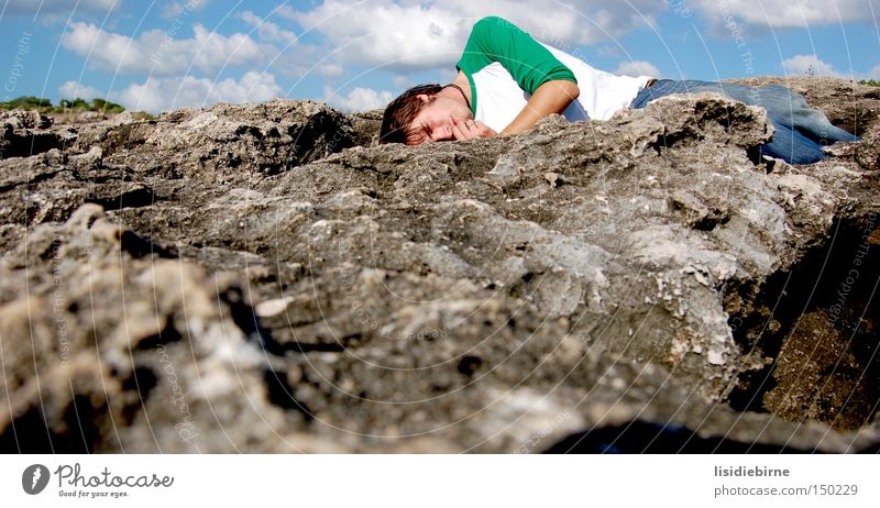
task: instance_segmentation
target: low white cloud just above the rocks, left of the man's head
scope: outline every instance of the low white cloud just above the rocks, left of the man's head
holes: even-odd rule
[[[147,78],[143,84],[111,93],[111,98],[130,110],[158,112],[215,102],[263,102],[282,93],[284,90],[273,75],[252,70],[241,79],[228,78],[217,82],[193,76]]]

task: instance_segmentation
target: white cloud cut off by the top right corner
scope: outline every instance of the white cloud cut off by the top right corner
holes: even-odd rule
[[[773,27],[805,27],[851,21],[875,23],[880,0],[690,0],[690,8],[713,25],[743,22]]]

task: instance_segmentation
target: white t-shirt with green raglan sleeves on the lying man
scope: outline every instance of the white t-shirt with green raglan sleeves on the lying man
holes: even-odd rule
[[[457,67],[471,82],[474,118],[497,132],[514,121],[546,81],[565,79],[578,84],[580,97],[562,112],[573,122],[608,120],[627,108],[651,79],[597,70],[496,16],[474,24]]]

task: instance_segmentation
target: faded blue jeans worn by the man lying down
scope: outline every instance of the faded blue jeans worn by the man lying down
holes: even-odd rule
[[[760,106],[776,128],[773,141],[762,145],[761,154],[781,158],[790,164],[810,164],[826,155],[822,147],[837,141],[859,141],[840,128],[832,125],[821,111],[811,108],[804,98],[781,85],[749,87],[697,80],[660,79],[639,91],[629,106],[645,108],[648,102],[672,93],[713,91],[749,106]]]

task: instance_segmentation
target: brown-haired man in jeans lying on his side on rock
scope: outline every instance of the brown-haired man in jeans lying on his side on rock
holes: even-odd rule
[[[496,16],[477,21],[455,80],[410,88],[385,109],[380,143],[420,144],[516,134],[553,113],[569,121],[608,120],[670,93],[714,91],[767,109],[776,128],[761,153],[792,164],[822,158],[823,145],[858,141],[785,87],[615,76],[534,40]]]

